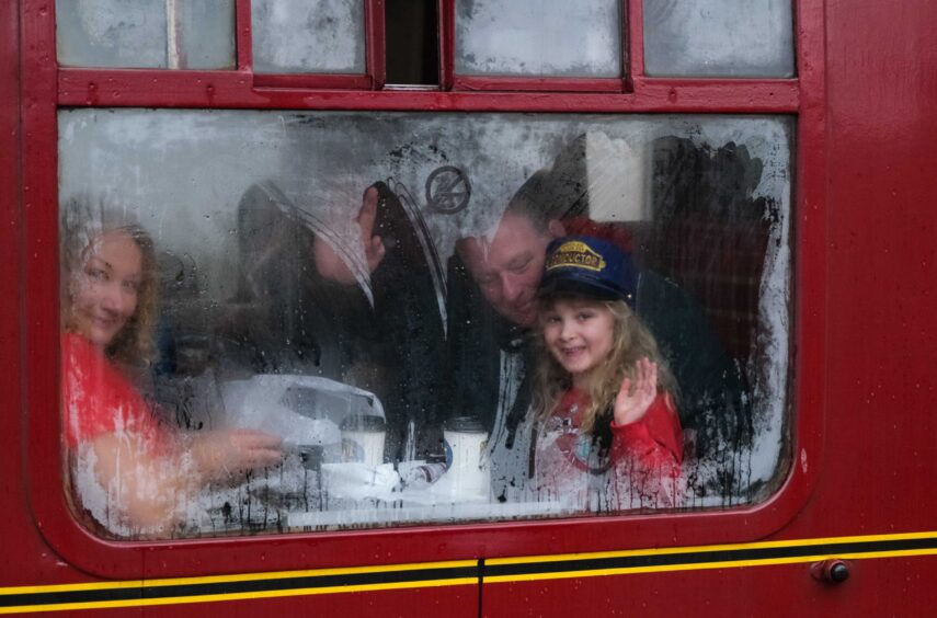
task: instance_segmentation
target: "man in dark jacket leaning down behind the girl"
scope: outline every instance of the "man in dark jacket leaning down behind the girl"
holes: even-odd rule
[[[523,480],[534,473],[533,427],[527,419],[533,376],[527,367],[533,367],[529,332],[537,321],[536,289],[547,244],[567,234],[603,237],[628,251],[633,243],[626,227],[570,214],[576,208],[561,213],[545,208],[537,191],[545,181],[549,185],[548,174],[535,174],[514,195],[493,234],[467,238],[457,245],[468,273],[498,313],[492,332],[499,353],[479,353],[478,342],[484,334],[452,333],[450,348],[459,367],[456,385],[462,387],[454,400],[462,402],[466,412],[485,417],[494,492],[504,499],[523,497]],[[677,379],[682,423],[693,449],[688,456],[718,460],[723,455],[720,451],[733,451],[750,440],[751,411],[743,397],[743,376],[698,304],[675,284],[644,268],[638,278],[636,312],[653,332]],[[475,350],[466,353],[466,347]],[[510,368],[513,377],[506,377]],[[725,487],[709,489],[728,491]]]

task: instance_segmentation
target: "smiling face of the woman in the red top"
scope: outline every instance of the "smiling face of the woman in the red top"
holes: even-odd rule
[[[83,258],[71,285],[71,325],[103,348],[137,310],[142,252],[127,233],[113,231],[94,239]]]

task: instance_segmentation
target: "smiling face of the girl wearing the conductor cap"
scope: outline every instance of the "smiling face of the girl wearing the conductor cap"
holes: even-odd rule
[[[540,324],[547,350],[570,373],[573,386],[585,388],[612,354],[615,316],[601,301],[556,300],[544,307]]]

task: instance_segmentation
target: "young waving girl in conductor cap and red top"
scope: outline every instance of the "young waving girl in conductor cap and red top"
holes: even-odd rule
[[[536,490],[575,508],[674,506],[683,432],[676,385],[632,310],[630,256],[592,237],[547,248],[538,288]]]

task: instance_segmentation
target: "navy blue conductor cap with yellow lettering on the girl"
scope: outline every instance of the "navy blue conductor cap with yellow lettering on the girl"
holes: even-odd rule
[[[567,236],[547,245],[547,262],[537,295],[576,294],[602,300],[624,300],[631,307],[638,271],[627,253],[591,236]]]

